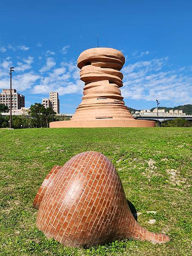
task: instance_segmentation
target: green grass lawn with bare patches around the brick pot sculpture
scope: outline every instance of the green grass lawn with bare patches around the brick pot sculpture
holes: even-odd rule
[[[0,255],[191,255],[191,135],[191,128],[0,129]],[[35,227],[33,199],[52,166],[90,150],[116,166],[141,226],[165,232],[169,243],[68,248]]]

